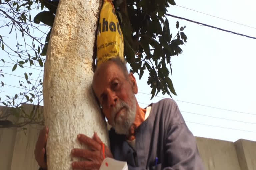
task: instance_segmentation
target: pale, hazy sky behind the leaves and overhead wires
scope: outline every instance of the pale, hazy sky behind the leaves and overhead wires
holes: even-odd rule
[[[253,0],[176,0],[176,4],[256,28],[256,11],[254,10],[256,2]],[[178,6],[171,6],[168,13],[256,37],[256,29]],[[168,17],[168,20],[173,34],[176,34],[177,31],[176,21],[179,21],[180,26],[186,25],[184,32],[188,37],[188,42],[181,46],[183,49],[181,55],[171,58],[173,70],[171,79],[178,94],[178,96],[172,95],[173,99],[179,100],[176,102],[189,129],[195,136],[228,141],[236,141],[240,138],[256,141],[256,67],[254,66],[256,62],[256,40],[176,18]],[[7,35],[8,32],[9,30],[6,30],[1,35]],[[15,39],[10,38],[6,41],[13,40]],[[12,62],[2,51],[0,54],[0,58]],[[3,72],[24,77],[25,69],[17,67],[17,70],[11,72],[12,67],[1,67],[2,62],[0,64],[0,69]],[[13,65],[6,63],[5,66]],[[26,71],[34,72],[32,79],[36,79],[40,73],[39,70],[34,69],[27,69]],[[4,80],[9,85],[18,86],[19,80],[25,80],[7,74],[4,75],[5,78],[0,77],[0,81]],[[155,97],[150,101],[151,96],[147,94],[150,94],[151,89],[146,83],[147,77],[146,72],[141,80],[136,75],[139,88],[136,97],[141,107],[145,107],[146,104],[151,102],[157,102],[163,97],[160,92],[158,94],[160,97]],[[1,101],[3,101],[5,95],[14,95],[20,92],[21,89],[5,86],[0,90],[3,90],[0,93]],[[164,97],[169,98],[167,95]]]

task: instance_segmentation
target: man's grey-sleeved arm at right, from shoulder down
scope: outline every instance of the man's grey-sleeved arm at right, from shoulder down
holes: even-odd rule
[[[164,145],[167,166],[165,170],[203,170],[196,139],[188,129],[180,110],[173,100],[167,101],[166,140]]]

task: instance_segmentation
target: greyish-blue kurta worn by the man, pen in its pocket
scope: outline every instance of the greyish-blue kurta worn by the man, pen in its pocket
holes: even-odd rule
[[[110,130],[114,159],[126,161],[129,170],[204,170],[196,139],[176,102],[163,99],[151,106],[149,117],[135,130],[135,149],[125,135]]]

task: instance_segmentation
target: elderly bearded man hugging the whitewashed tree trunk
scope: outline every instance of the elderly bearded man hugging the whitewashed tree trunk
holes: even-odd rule
[[[163,99],[140,108],[135,98],[138,87],[135,77],[127,72],[124,62],[110,59],[101,64],[93,77],[93,91],[103,114],[112,126],[110,149],[106,157],[126,161],[129,170],[203,170],[196,140],[186,126],[177,104]],[[35,157],[40,167],[47,168],[44,155],[48,129],[38,138]],[[91,149],[72,149],[73,156],[86,161],[73,162],[74,169],[99,169],[103,161],[102,142],[78,134],[78,139]]]

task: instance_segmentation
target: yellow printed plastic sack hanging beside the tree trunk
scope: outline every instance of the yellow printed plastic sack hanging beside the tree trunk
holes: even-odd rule
[[[97,66],[117,56],[124,60],[123,34],[112,2],[104,0],[97,34]]]

